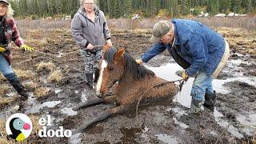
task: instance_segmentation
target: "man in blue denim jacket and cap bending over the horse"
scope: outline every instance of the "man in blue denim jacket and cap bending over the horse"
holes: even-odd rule
[[[154,46],[136,60],[138,64],[148,62],[164,50],[169,50],[175,62],[184,69],[182,78],[195,78],[190,93],[190,112],[200,112],[202,105],[214,108],[216,92],[212,81],[226,64],[230,54],[229,45],[224,38],[201,22],[173,19],[157,22],[150,42]]]

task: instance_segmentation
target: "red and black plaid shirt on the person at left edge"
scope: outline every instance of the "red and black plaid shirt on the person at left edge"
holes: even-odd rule
[[[17,26],[14,22],[14,18],[10,17],[5,20],[5,36],[8,42],[8,46],[10,46],[11,41],[14,41],[15,45],[18,47],[22,46],[23,41],[18,33]]]

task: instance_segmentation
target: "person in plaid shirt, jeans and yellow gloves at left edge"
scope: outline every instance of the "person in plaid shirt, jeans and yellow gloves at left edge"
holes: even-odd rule
[[[11,42],[13,41],[22,50],[34,50],[30,46],[24,45],[20,38],[18,29],[12,17],[14,10],[9,2],[0,0],[0,72],[10,82],[14,89],[20,94],[22,100],[28,98],[25,87],[22,85],[14,70],[11,67]]]

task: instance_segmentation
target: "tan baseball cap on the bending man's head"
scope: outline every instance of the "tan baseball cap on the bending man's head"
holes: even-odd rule
[[[154,24],[153,27],[153,36],[150,38],[151,43],[160,42],[163,35],[167,34],[170,31],[170,22],[169,21],[159,21]]]

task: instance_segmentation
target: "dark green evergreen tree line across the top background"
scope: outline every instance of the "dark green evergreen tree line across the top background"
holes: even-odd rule
[[[56,14],[73,16],[79,0],[10,0],[17,17],[52,17]],[[151,17],[159,14],[178,17],[200,14],[211,15],[230,12],[255,14],[256,0],[98,0],[98,7],[110,18],[130,18],[133,14]]]

